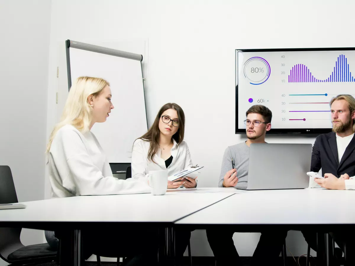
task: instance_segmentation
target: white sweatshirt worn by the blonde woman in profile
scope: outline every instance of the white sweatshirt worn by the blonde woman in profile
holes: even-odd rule
[[[51,196],[150,193],[148,183],[113,177],[107,157],[95,135],[71,125],[61,127],[49,155]]]

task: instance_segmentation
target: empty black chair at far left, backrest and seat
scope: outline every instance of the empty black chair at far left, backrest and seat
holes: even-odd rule
[[[0,166],[0,204],[18,203],[15,184],[9,166]],[[22,228],[0,227],[0,258],[13,265],[50,262],[57,251],[49,245],[24,246],[20,240]]]

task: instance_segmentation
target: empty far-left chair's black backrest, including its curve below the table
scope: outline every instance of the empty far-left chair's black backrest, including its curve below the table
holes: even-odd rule
[[[17,203],[15,184],[9,166],[0,165],[0,204]],[[20,235],[22,228],[0,228],[0,258],[7,260],[13,251],[22,248]],[[10,262],[11,263],[11,262]]]

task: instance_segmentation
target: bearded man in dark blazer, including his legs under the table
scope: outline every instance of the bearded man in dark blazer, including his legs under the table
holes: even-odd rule
[[[355,99],[343,94],[333,98],[329,104],[333,130],[316,138],[311,171],[317,173],[322,169],[324,179],[316,178],[315,182],[323,188],[355,189]],[[317,251],[316,233],[308,230],[302,233],[311,248]],[[339,227],[329,234],[346,253],[346,265],[354,265],[355,234],[352,230]]]

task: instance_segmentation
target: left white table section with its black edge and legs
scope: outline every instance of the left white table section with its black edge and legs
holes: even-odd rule
[[[173,254],[171,234],[174,222],[218,201],[232,196],[233,188],[198,188],[168,190],[165,195],[152,194],[77,196],[24,202],[25,209],[0,211],[1,227],[23,227],[61,232],[61,262],[83,265],[81,230],[125,228],[125,230],[159,227],[169,234],[169,247],[164,254]],[[124,225],[124,227],[122,227]],[[170,230],[170,231],[169,231]],[[65,234],[63,234],[65,233]],[[63,244],[65,243],[65,244]],[[63,244],[63,246],[62,246]],[[61,249],[62,251],[63,249]],[[65,256],[64,256],[65,253]],[[69,255],[68,255],[69,253]]]

